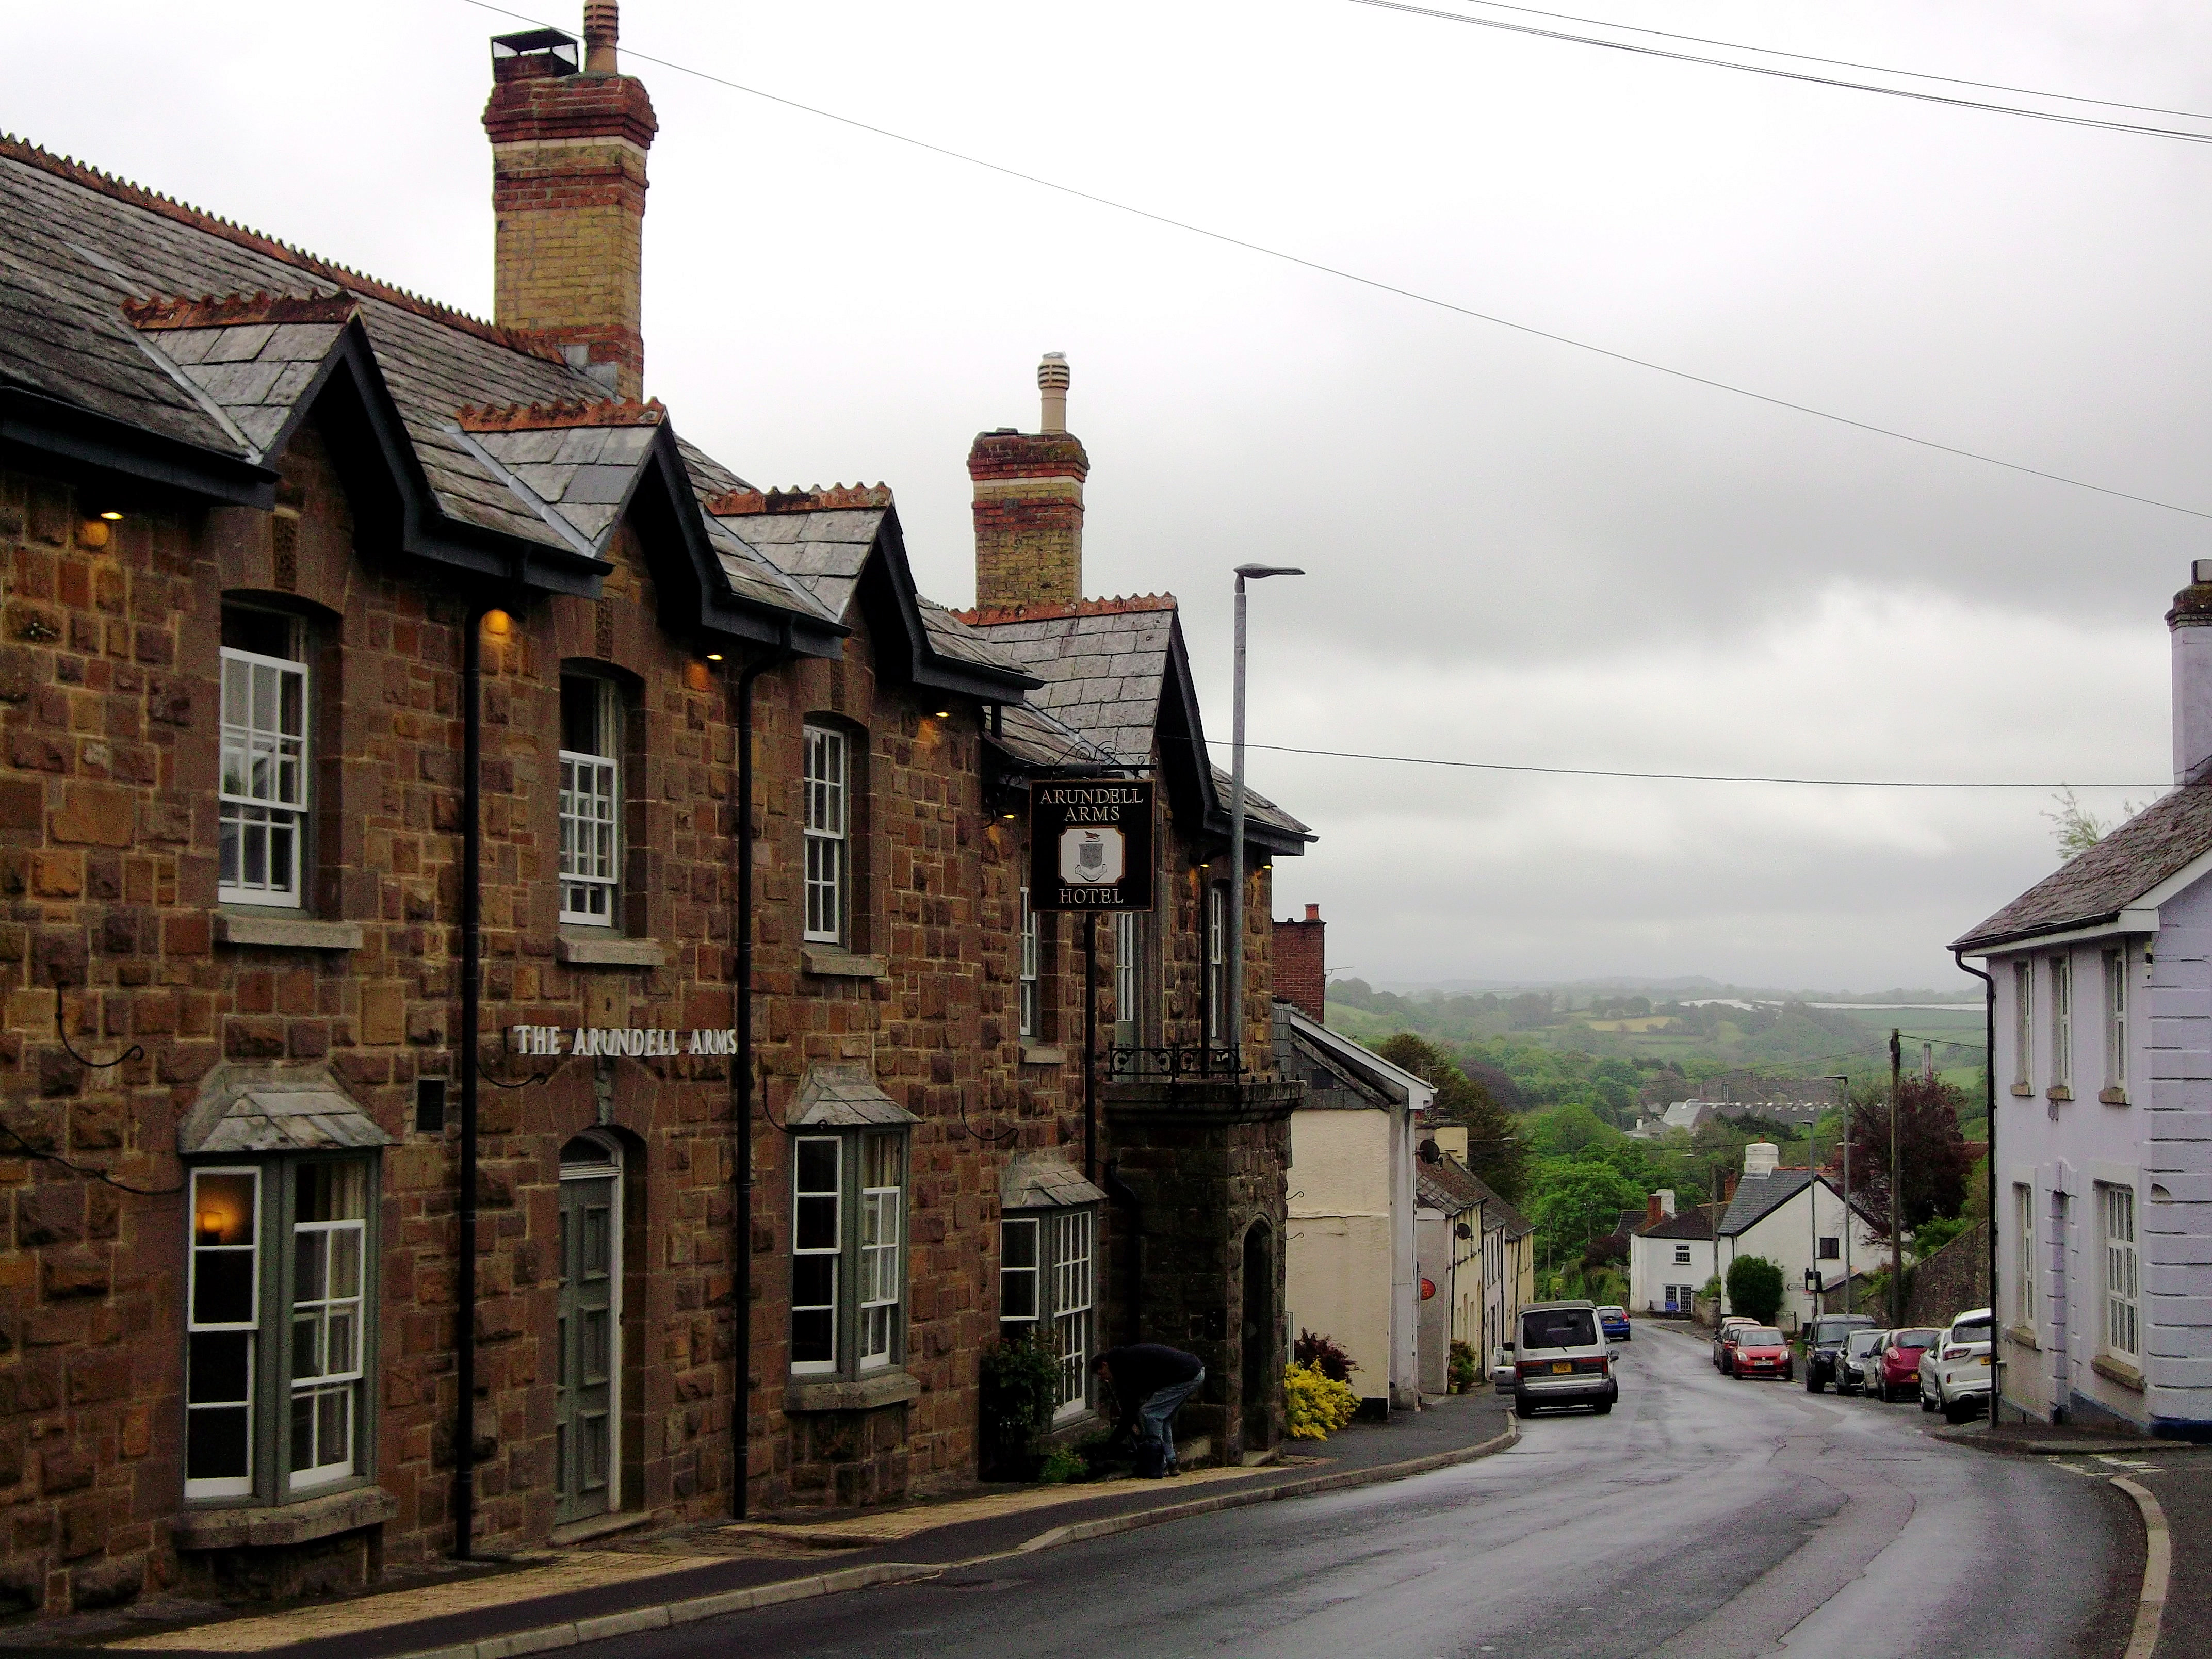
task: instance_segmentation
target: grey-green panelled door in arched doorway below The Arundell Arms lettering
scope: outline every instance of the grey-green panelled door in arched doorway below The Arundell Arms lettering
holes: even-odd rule
[[[560,1314],[553,1358],[560,1524],[622,1509],[622,1146],[560,1150]]]

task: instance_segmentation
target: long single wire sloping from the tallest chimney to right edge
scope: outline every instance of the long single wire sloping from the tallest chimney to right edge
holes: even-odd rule
[[[491,4],[491,0],[462,0],[462,2],[471,4],[471,7],[480,9],[480,11],[491,11],[491,13],[498,13],[502,18],[513,18],[515,22],[535,24],[540,29],[553,29],[553,27],[557,27],[557,24],[549,24],[549,22],[544,22],[540,18],[533,18],[526,11],[513,11],[509,7]],[[1451,13],[1440,13],[1440,15],[1451,15]],[[1854,416],[1834,414],[1832,409],[1816,409],[1809,403],[1794,403],[1790,398],[1781,398],[1781,396],[1774,396],[1770,392],[1754,392],[1750,387],[1741,387],[1741,385],[1734,385],[1730,380],[1717,380],[1710,374],[1697,374],[1692,369],[1677,369],[1677,367],[1670,367],[1666,363],[1655,363],[1652,358],[1635,356],[1630,352],[1615,352],[1608,345],[1593,345],[1590,341],[1577,341],[1573,334],[1557,334],[1557,332],[1546,330],[1546,327],[1535,327],[1533,323],[1515,323],[1511,316],[1498,316],[1495,312],[1480,312],[1473,305],[1460,305],[1460,303],[1449,301],[1449,299],[1438,299],[1436,294],[1422,294],[1420,290],[1413,290],[1413,288],[1400,288],[1398,283],[1387,283],[1380,276],[1363,276],[1360,272],[1345,270],[1343,265],[1329,265],[1329,263],[1325,263],[1321,259],[1307,259],[1305,254],[1294,254],[1294,252],[1287,252],[1283,248],[1270,248],[1267,243],[1250,241],[1245,237],[1234,237],[1234,234],[1230,234],[1225,230],[1210,230],[1208,226],[1192,223],[1190,219],[1175,219],[1172,215],[1155,212],[1152,208],[1139,208],[1139,206],[1135,206],[1130,201],[1117,201],[1115,197],[1106,197],[1106,195],[1099,195],[1095,190],[1082,190],[1082,188],[1077,188],[1073,184],[1060,184],[1057,179],[1046,179],[1040,173],[1024,173],[1022,168],[1006,166],[1004,161],[991,161],[991,159],[980,157],[980,155],[969,155],[967,150],[953,150],[953,148],[949,148],[945,144],[931,144],[929,139],[918,139],[918,137],[911,137],[907,133],[896,133],[889,126],[876,126],[874,122],[863,122],[863,119],[858,119],[854,115],[841,115],[836,111],[821,108],[818,104],[801,104],[796,97],[783,97],[781,93],[770,93],[770,91],[765,91],[761,86],[748,86],[743,82],[730,80],[728,75],[714,75],[714,73],[706,71],[706,69],[692,69],[690,64],[679,64],[672,58],[655,58],[653,53],[637,51],[635,46],[624,46],[622,51],[624,51],[624,55],[635,58],[639,62],[675,71],[677,75],[690,75],[690,77],[703,80],[703,82],[708,82],[712,86],[723,86],[723,88],[728,88],[732,93],[743,93],[745,97],[759,97],[759,100],[763,100],[768,104],[779,104],[783,108],[799,111],[801,115],[814,115],[814,117],[825,119],[825,122],[836,122],[838,126],[849,126],[856,133],[872,133],[874,137],[891,139],[894,144],[905,144],[905,146],[916,148],[916,150],[927,150],[929,155],[945,157],[947,161],[960,161],[962,166],[973,166],[973,168],[982,168],[984,173],[998,173],[1000,177],[1006,177],[1006,179],[1018,179],[1022,184],[1033,184],[1040,190],[1053,190],[1057,195],[1073,197],[1075,201],[1088,201],[1088,204],[1093,204],[1097,208],[1110,208],[1113,212],[1126,212],[1133,219],[1144,219],[1144,221],[1155,223],[1155,226],[1166,226],[1168,230],[1181,230],[1181,232],[1186,232],[1190,237],[1203,237],[1206,241],[1214,241],[1214,243],[1221,243],[1225,248],[1241,248],[1243,252],[1261,254],[1263,259],[1276,259],[1276,261],[1281,261],[1285,265],[1296,265],[1298,270],[1310,270],[1310,272],[1316,272],[1321,276],[1334,276],[1334,279],[1345,281],[1345,283],[1356,283],[1356,285],[1374,290],[1378,294],[1394,294],[1398,299],[1409,299],[1416,305],[1433,305],[1440,312],[1451,312],[1455,316],[1469,316],[1469,319],[1473,319],[1478,323],[1491,323],[1495,327],[1506,327],[1506,330],[1513,330],[1515,334],[1526,334],[1526,336],[1537,338],[1537,341],[1551,341],[1555,345],[1571,345],[1577,352],[1588,352],[1590,356],[1610,358],[1613,363],[1626,363],[1626,365],[1637,367],[1637,369],[1650,369],[1652,374],[1666,374],[1666,376],[1670,376],[1674,380],[1688,380],[1690,385],[1701,385],[1701,387],[1708,387],[1712,392],[1725,392],[1725,394],[1736,396],[1736,398],[1750,398],[1752,403],[1763,403],[1763,405],[1767,405],[1772,409],[1790,409],[1792,414],[1812,416],[1814,420],[1827,420],[1827,422],[1838,425],[1838,427],[1851,427],[1854,431],[1874,434],[1876,438],[1893,438],[1896,442],[1916,445],[1920,449],[1933,449],[1933,451],[1938,451],[1942,456],[1958,456],[1960,460],[1973,460],[1973,462],[1980,462],[1982,467],[1997,467],[1997,469],[2008,471],[2008,473],[2022,473],[2024,478],[2042,478],[2042,480],[2053,482],[2053,484],[2066,484],[2068,489],[2086,489],[2093,495],[2108,495],[2112,500],[2137,502],[2139,507],[2157,507],[2163,513],[2183,513],[2185,518],[2212,520],[2212,511],[2201,509],[2201,507],[2183,507],[2179,502],[2166,502],[2166,500],[2159,500],[2157,495],[2141,495],[2137,491],[2117,489],[2112,484],[2093,484],[2086,478],[2073,478],[2068,473],[2057,473],[2057,471],[2051,471],[2046,467],[2028,467],[2026,462],[2020,462],[2020,460],[2004,460],[2002,456],[1991,456],[1991,453],[1984,453],[1980,449],[1966,449],[1962,445],[1947,445],[1947,442],[1942,442],[1938,438],[1920,438],[1918,434],[1900,431],[1898,427],[1882,427],[1882,425],[1876,425],[1874,420],[1858,420]]]

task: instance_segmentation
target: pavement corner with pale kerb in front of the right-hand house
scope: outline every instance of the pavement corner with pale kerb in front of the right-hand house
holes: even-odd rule
[[[1942,1440],[1982,1451],[2035,1458],[2084,1480],[2110,1482],[2152,1504],[2166,1531],[2168,1571],[2163,1604],[2150,1646],[2130,1659],[2199,1659],[2212,1652],[2212,1447],[2177,1440],[2115,1436],[2075,1425],[1984,1422],[1938,1431]]]

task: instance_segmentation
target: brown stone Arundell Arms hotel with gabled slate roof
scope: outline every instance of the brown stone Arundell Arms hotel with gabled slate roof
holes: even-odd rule
[[[1175,1060],[1232,1040],[1172,602],[1066,608],[1155,641],[1099,726],[916,593],[887,489],[757,489],[641,400],[613,4],[493,42],[484,126],[495,323],[0,142],[13,1608],[969,1480],[1024,1318],[1071,1425],[1130,1321],[1272,1438],[1225,1321],[1281,1307],[1285,1086]],[[1117,768],[1172,823],[1086,1119],[1022,796]],[[1256,810],[1261,1018],[1307,838]]]

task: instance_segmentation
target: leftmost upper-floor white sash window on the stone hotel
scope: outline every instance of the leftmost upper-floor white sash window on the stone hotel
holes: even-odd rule
[[[217,898],[305,905],[307,664],[296,617],[223,606]]]

